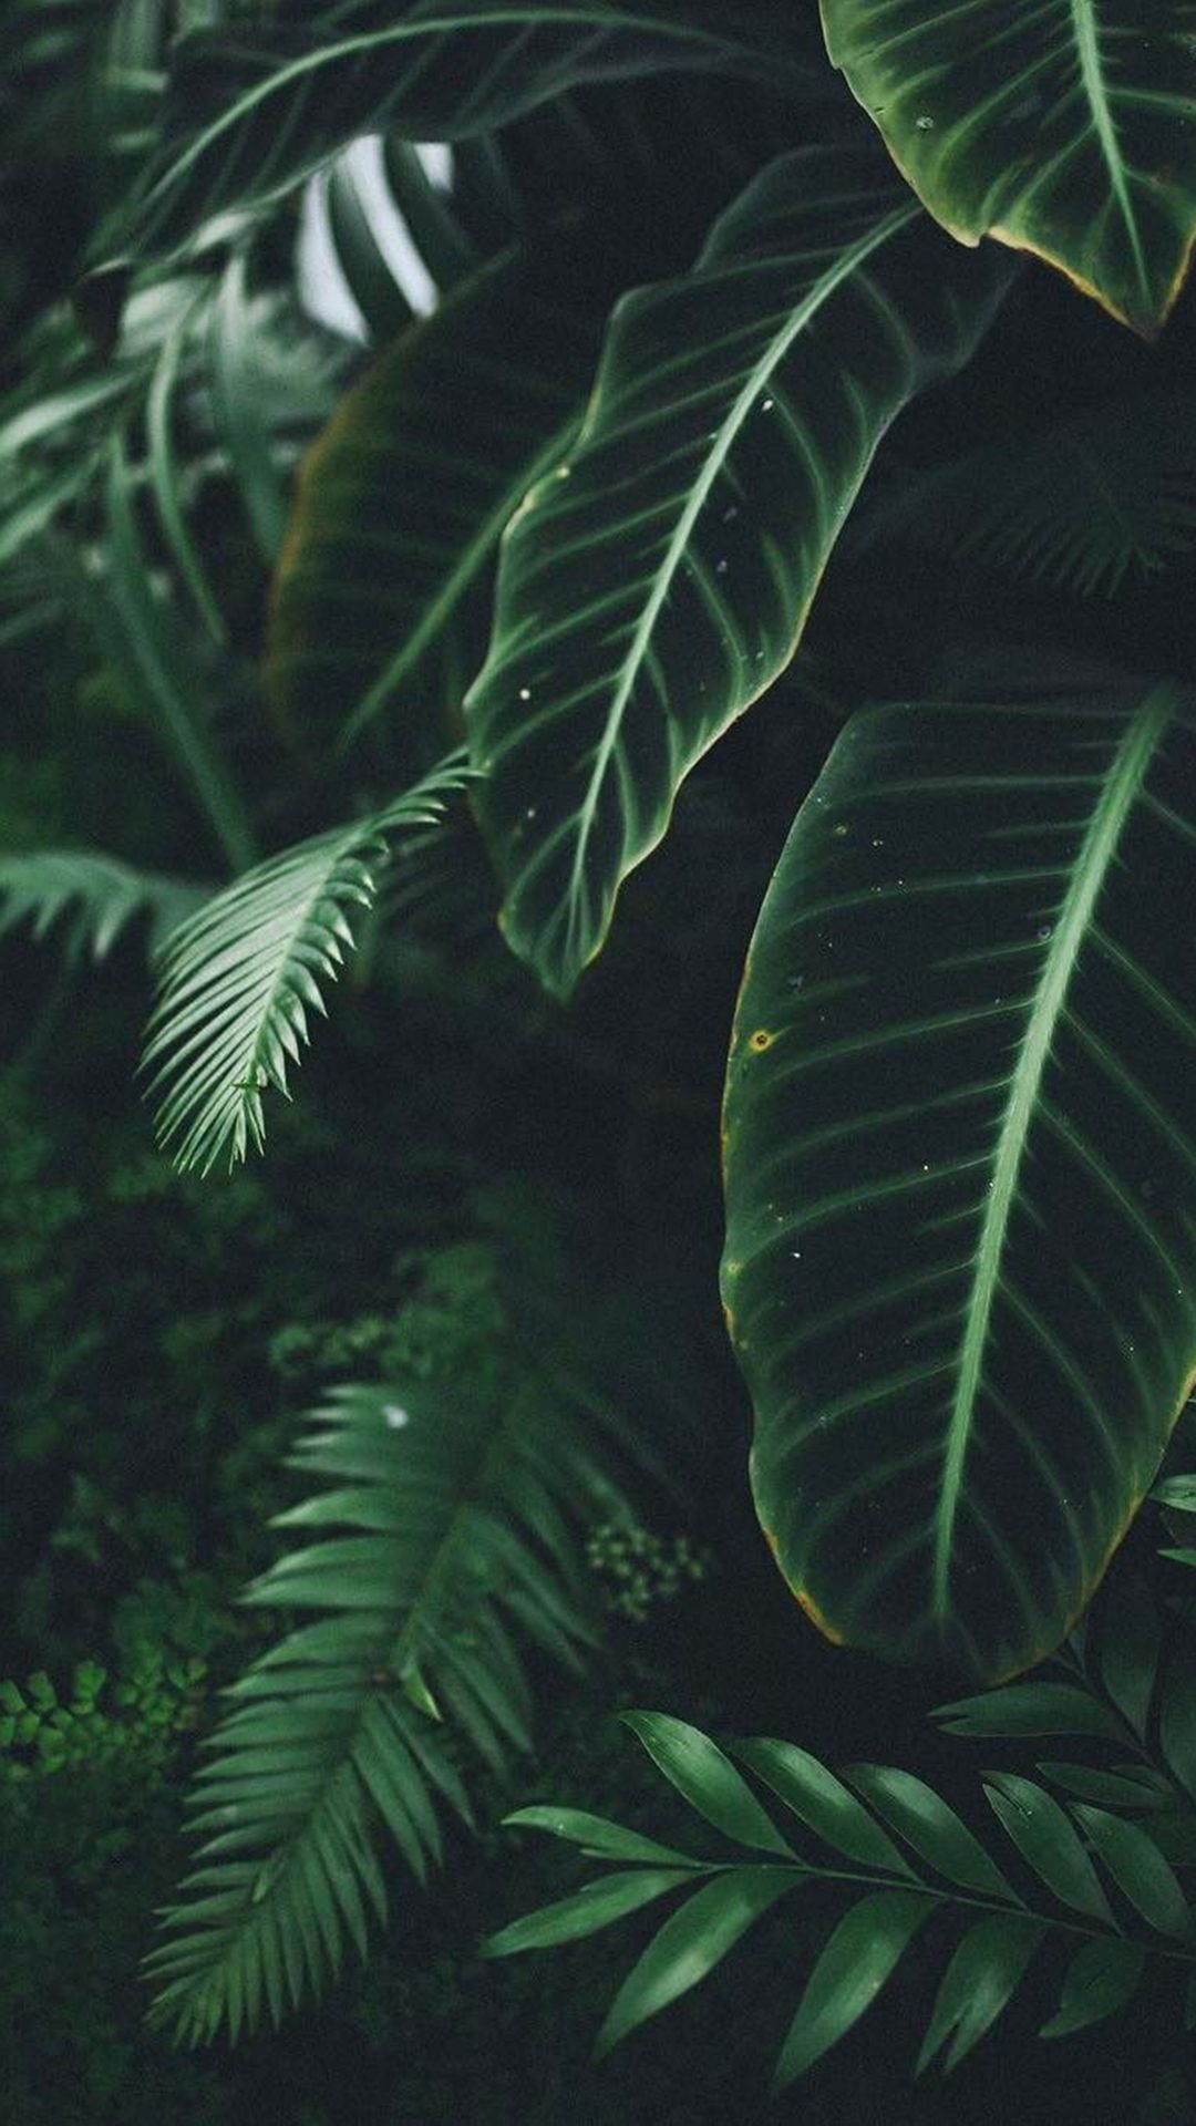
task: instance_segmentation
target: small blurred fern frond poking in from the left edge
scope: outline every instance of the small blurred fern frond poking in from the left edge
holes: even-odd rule
[[[68,961],[106,959],[121,931],[145,914],[149,950],[162,950],[175,931],[206,899],[206,887],[164,872],[138,872],[119,857],[94,848],[38,848],[21,857],[0,857],[0,938],[32,923],[34,938],[47,938],[64,923],[62,946]]]

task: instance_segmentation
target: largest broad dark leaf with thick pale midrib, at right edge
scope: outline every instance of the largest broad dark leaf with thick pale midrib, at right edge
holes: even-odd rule
[[[726,1103],[753,1488],[832,1639],[1064,1635],[1196,1365],[1196,719],[849,725],[764,901]]]

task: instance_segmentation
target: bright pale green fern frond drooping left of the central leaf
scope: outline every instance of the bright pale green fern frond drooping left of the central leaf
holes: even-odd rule
[[[255,865],[170,938],[143,1069],[181,1171],[262,1148],[262,1093],[287,1093],[306,1014],[353,950],[349,910],[372,908],[392,838],[434,825],[466,780],[453,755],[370,819]]]

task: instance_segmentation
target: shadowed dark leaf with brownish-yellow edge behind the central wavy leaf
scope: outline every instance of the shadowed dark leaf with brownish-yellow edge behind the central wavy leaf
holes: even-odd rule
[[[300,472],[270,606],[266,687],[302,744],[351,742],[383,712],[406,761],[430,727],[441,744],[485,651],[498,536],[564,457],[596,347],[504,264],[340,402]]]

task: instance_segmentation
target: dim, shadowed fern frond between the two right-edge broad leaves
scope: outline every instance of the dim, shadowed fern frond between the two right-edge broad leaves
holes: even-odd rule
[[[1107,597],[1196,544],[1196,406],[1158,393],[1087,408],[913,474],[877,500],[856,551],[913,540]]]

